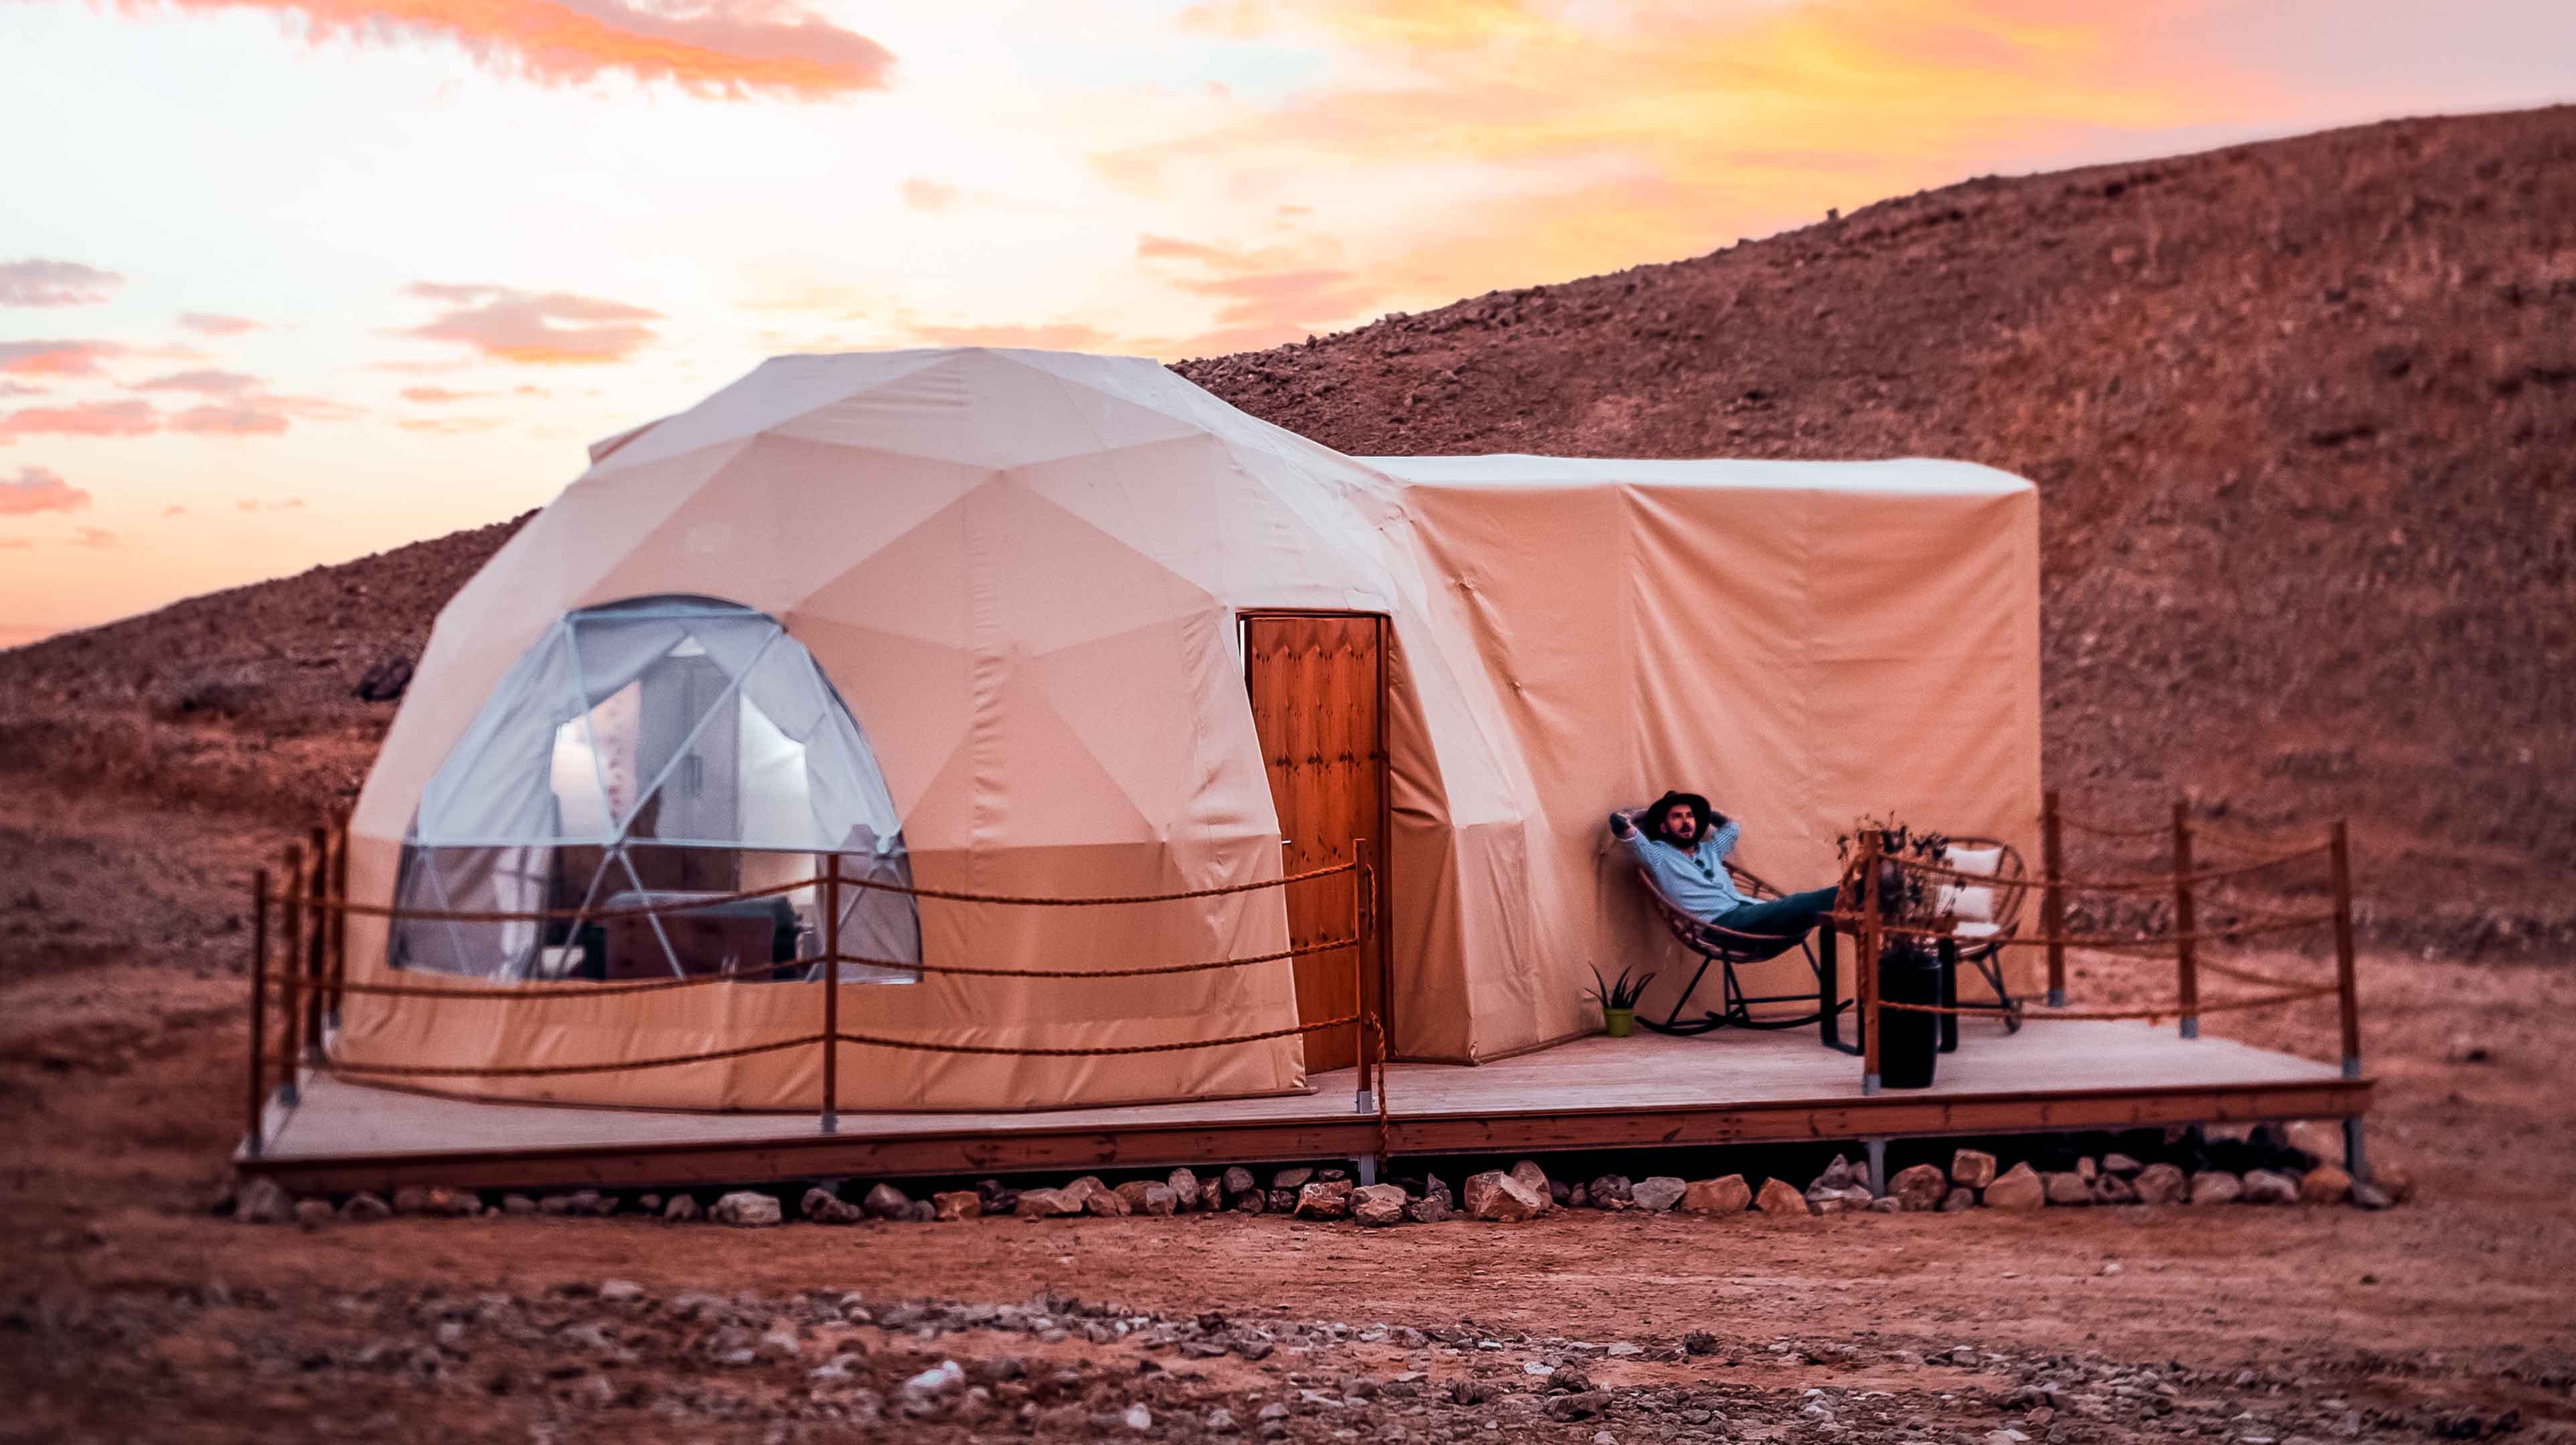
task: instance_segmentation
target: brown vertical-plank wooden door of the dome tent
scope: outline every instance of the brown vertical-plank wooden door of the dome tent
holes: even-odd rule
[[[1244,688],[1252,726],[1270,768],[1278,804],[1280,863],[1306,873],[1347,863],[1352,840],[1365,840],[1378,878],[1378,932],[1386,917],[1386,618],[1358,613],[1244,616]],[[1350,935],[1358,876],[1342,873],[1288,886],[1288,940],[1293,945]],[[1293,963],[1298,1023],[1358,1012],[1352,987],[1370,1012],[1386,1010],[1386,945],[1370,940],[1358,984],[1347,948],[1311,953]],[[1388,1023],[1388,1030],[1394,1025]],[[1358,1064],[1350,1028],[1306,1035],[1306,1069]]]

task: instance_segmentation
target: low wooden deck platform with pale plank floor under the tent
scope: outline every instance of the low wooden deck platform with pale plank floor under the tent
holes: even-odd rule
[[[829,1141],[858,1151],[871,1141],[912,1141],[909,1154],[894,1151],[881,1162],[930,1159],[935,1141],[945,1141],[976,1167],[1007,1169],[1020,1157],[1033,1167],[1087,1149],[1115,1157],[1115,1146],[1097,1141],[1151,1136],[1167,1151],[1218,1149],[1198,1154],[1203,1162],[1221,1159],[1226,1138],[1239,1138],[1247,1149],[1265,1144],[1291,1151],[1347,1144],[1352,1126],[1368,1118],[1358,1115],[1352,1090],[1352,1072],[1337,1069],[1319,1074],[1311,1092],[1255,1100],[1030,1113],[845,1113]],[[2367,1084],[2344,1082],[2331,1064],[2223,1038],[2182,1041],[2172,1030],[2089,1020],[2032,1023],[2020,1035],[2004,1035],[1999,1025],[1971,1025],[1960,1051],[1940,1059],[1935,1087],[1891,1090],[1878,1100],[1862,1100],[1857,1059],[1819,1048],[1803,1030],[1582,1038],[1481,1066],[1386,1069],[1388,1118],[1422,1141],[1453,1146],[1546,1146],[1548,1138],[1564,1138],[1564,1146],[1852,1138],[1873,1128],[1904,1133],[1942,1123],[1958,1123],[1960,1131],[2048,1128],[2063,1110],[2133,1097],[2138,1090],[2192,1092],[2195,1100],[2208,1095],[2213,1108],[2223,1105],[2231,1118],[2244,1118],[2262,1115],[2264,1100],[2303,1110],[2334,1102],[2349,1113],[2360,1108]],[[1891,1105],[1942,1108],[1891,1113]],[[1747,1128],[1747,1118],[1759,1123]],[[1873,1126],[1873,1118],[1880,1123]],[[1649,1126],[1651,1120],[1692,1123],[1685,1133],[1685,1126],[1662,1128]],[[775,1146],[783,1151],[781,1169],[791,1175],[796,1169],[788,1154],[811,1151],[819,1141],[811,1115],[477,1102],[312,1077],[299,1108],[270,1108],[268,1146],[258,1162],[245,1164],[327,1180],[332,1162],[361,1159],[428,1169],[440,1159],[495,1154],[652,1157],[734,1146],[739,1167],[742,1149]]]

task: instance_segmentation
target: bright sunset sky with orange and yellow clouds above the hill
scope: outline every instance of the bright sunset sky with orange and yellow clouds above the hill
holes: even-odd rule
[[[773,353],[1208,355],[2568,98],[2568,0],[0,0],[0,647],[533,507]]]

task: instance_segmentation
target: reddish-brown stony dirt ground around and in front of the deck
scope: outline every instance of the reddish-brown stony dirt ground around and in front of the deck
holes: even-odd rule
[[[2365,961],[2388,1213],[260,1229],[211,1203],[270,840],[0,804],[0,1440],[2576,1440],[2563,958]]]

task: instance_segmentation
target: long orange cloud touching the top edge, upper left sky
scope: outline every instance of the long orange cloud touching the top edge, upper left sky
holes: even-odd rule
[[[819,100],[884,90],[886,46],[786,0],[170,0],[180,10],[270,10],[304,39],[456,41],[489,70],[541,85],[600,75],[670,82],[698,95]]]

